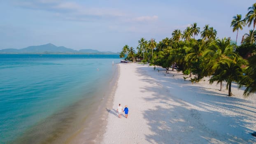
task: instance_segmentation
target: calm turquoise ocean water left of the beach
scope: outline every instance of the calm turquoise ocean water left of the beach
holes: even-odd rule
[[[78,102],[90,107],[112,78],[113,61],[119,55],[1,54],[0,144],[40,141],[53,128],[47,123],[67,121],[61,113],[72,114]],[[30,141],[16,141],[26,135]]]

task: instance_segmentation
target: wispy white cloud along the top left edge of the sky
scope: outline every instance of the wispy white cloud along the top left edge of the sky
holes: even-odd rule
[[[15,4],[26,9],[40,9],[53,12],[54,16],[71,21],[91,21],[125,15],[111,8],[86,7],[86,5],[80,5],[77,2],[63,2],[60,0],[26,0],[22,2],[17,1]]]

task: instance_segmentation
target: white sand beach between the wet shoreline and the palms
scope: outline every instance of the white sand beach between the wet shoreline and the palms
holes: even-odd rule
[[[107,108],[102,144],[254,144],[256,95],[242,96],[234,84],[228,97],[207,78],[191,84],[179,72],[140,64],[119,64],[113,107]],[[160,72],[158,72],[160,70]],[[188,76],[186,76],[188,77]],[[128,118],[118,118],[118,104]]]

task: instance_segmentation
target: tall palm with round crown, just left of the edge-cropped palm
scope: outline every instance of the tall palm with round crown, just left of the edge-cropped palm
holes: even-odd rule
[[[237,31],[236,34],[236,39],[235,39],[235,44],[237,44],[237,36],[238,36],[238,31],[243,30],[243,26],[245,26],[245,20],[242,19],[241,14],[237,14],[237,16],[233,16],[233,20],[231,21],[230,27],[233,26],[233,32]]]

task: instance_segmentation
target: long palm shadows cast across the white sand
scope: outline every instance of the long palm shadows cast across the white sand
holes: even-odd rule
[[[155,84],[140,88],[142,92],[154,93],[144,99],[156,105],[143,112],[153,132],[145,135],[149,143],[256,142],[256,138],[251,136],[251,132],[255,131],[253,128],[256,120],[256,107],[251,106],[251,101],[207,91],[182,79],[179,83],[169,77],[151,79],[145,76],[147,71],[148,67],[137,68],[137,74],[144,77],[142,81]],[[179,92],[181,90],[182,95]]]

